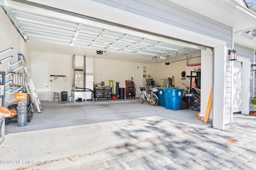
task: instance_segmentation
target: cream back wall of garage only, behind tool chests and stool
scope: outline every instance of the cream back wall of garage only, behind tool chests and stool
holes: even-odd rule
[[[72,80],[74,79],[72,57],[73,56],[62,54],[42,53],[36,51],[31,52],[32,61],[49,62],[50,75],[67,76],[67,82],[64,81],[62,77],[59,77],[57,80],[54,80],[54,77],[50,77],[50,80],[52,80],[52,82],[49,82],[50,101],[53,100],[54,90],[67,91],[68,96],[71,95]],[[125,88],[125,80],[129,80],[131,79],[131,77],[134,77],[134,70],[136,69],[136,66],[140,66],[141,69],[143,69],[143,67],[146,66],[147,74],[152,74],[152,71],[150,71],[152,70],[152,64],[116,61],[106,59],[106,57],[104,59],[103,56],[101,60],[100,56],[94,57],[94,83],[100,84],[100,82],[104,81],[105,86],[108,86],[108,80],[115,80],[115,82],[120,82],[120,88]],[[146,84],[146,78],[144,78],[143,80],[143,84]],[[115,82],[114,89],[116,88]]]

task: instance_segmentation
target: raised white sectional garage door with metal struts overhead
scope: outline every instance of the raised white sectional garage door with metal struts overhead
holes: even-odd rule
[[[1,1],[2,10],[26,41],[72,46],[80,50],[94,49],[106,54],[113,51],[153,59],[204,49],[198,45],[148,35],[31,4],[34,3]]]

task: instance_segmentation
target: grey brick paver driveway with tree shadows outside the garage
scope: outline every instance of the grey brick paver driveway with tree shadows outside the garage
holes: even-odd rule
[[[153,147],[138,147],[127,155],[85,165],[84,169],[107,170],[248,170],[256,167],[256,117],[234,115],[230,129],[218,131],[211,127],[192,131],[185,137],[163,137]],[[186,138],[188,137],[188,138]],[[175,139],[175,140],[174,140]],[[180,139],[177,141],[176,139]],[[79,170],[83,169],[78,168]]]

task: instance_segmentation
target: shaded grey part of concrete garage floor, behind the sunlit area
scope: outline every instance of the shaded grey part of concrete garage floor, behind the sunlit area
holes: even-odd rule
[[[151,106],[148,102],[140,104],[138,99],[42,102],[42,108],[41,113],[34,110],[31,122],[25,126],[18,127],[17,121],[11,121],[5,127],[6,134],[152,116],[210,126],[210,123],[198,120],[198,111],[173,111],[162,106]]]

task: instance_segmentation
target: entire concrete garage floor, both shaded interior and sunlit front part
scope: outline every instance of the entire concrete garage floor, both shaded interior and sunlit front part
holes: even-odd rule
[[[35,111],[27,125],[18,127],[15,121],[6,125],[0,160],[30,162],[1,164],[1,170],[44,169],[38,167],[42,162],[66,160],[211,126],[198,120],[197,111],[173,111],[148,102],[140,104],[138,99],[42,102],[42,107],[42,113]],[[72,169],[81,166],[79,163],[57,167]]]

